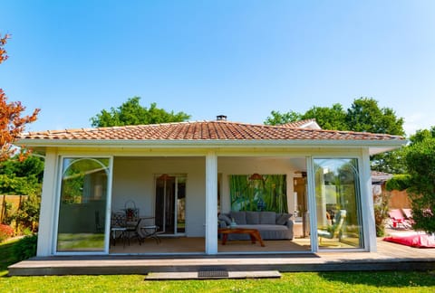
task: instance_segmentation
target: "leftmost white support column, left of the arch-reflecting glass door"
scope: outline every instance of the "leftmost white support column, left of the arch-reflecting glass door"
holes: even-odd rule
[[[57,153],[54,150],[47,150],[43,169],[43,194],[39,215],[37,256],[53,254],[57,174]]]

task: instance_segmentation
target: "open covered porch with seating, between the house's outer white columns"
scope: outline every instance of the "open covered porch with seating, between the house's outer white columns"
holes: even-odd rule
[[[364,172],[356,163],[358,156],[316,159],[269,151],[255,156],[63,156],[60,160],[57,233],[47,255],[373,250],[370,225],[362,229],[367,217],[362,211],[370,201],[362,196],[366,190],[360,184]],[[253,174],[259,177],[253,179]],[[267,190],[270,186],[274,190]],[[277,205],[279,210],[274,210]],[[241,240],[222,245],[218,214],[240,210],[289,214],[293,237],[265,239],[265,247]],[[342,219],[346,230],[343,226],[340,232],[328,231],[340,223],[333,214],[341,210],[353,214],[345,222]],[[122,234],[114,222],[117,214],[123,214],[135,230]],[[160,241],[145,238],[145,227],[155,227]],[[322,229],[330,234],[318,235]],[[138,236],[136,232],[139,240],[131,237]]]

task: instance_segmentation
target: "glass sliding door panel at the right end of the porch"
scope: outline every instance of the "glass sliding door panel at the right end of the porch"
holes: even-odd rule
[[[362,248],[358,160],[314,159],[314,174],[319,248]]]

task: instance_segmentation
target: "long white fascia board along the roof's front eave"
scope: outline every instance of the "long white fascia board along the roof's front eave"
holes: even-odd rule
[[[26,147],[128,147],[128,148],[225,148],[225,147],[369,147],[374,155],[405,146],[406,140],[321,140],[321,139],[280,139],[280,140],[49,140],[49,139],[20,139],[17,144]]]

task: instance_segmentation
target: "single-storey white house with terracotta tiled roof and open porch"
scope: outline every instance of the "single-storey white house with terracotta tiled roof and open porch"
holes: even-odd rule
[[[45,156],[37,255],[53,256],[181,253],[185,241],[189,251],[208,255],[375,251],[369,157],[406,141],[323,130],[314,120],[265,126],[219,116],[31,132],[17,143]],[[143,242],[135,250],[112,243],[120,236],[111,230],[113,217],[126,210],[158,226],[162,243]],[[265,247],[250,241],[223,246],[218,213],[230,211],[289,213],[299,234]],[[333,232],[338,214],[340,231]],[[320,236],[322,229],[331,239]],[[194,248],[193,241],[201,245]]]

